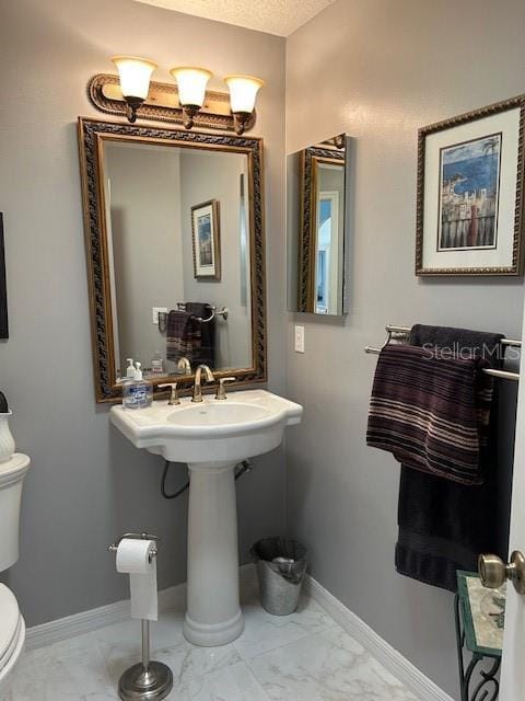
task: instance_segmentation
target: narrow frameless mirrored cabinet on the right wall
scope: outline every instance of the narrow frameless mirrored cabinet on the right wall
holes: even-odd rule
[[[288,157],[289,309],[345,313],[348,137]]]

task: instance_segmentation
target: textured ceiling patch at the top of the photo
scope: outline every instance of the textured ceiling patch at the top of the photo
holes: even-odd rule
[[[158,8],[289,36],[335,0],[136,0]]]

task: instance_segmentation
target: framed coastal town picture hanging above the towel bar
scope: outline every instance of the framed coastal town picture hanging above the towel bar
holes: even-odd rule
[[[417,275],[523,274],[525,95],[419,130]]]

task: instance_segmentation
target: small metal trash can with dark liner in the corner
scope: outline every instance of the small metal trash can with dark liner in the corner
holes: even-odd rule
[[[265,538],[252,545],[260,600],[273,616],[293,613],[306,571],[306,548],[296,540]]]

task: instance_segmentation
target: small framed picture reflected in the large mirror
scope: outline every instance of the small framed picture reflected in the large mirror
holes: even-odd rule
[[[219,200],[210,199],[191,207],[194,276],[221,279],[221,230]]]

